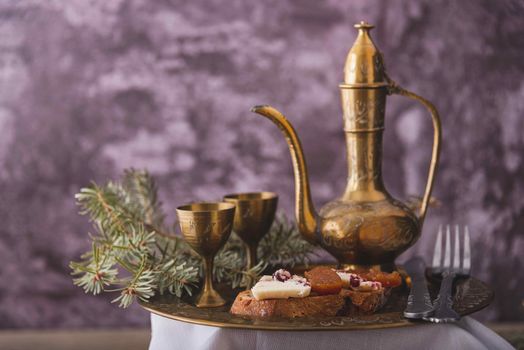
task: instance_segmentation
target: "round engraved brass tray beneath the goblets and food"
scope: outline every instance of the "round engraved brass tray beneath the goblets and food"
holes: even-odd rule
[[[250,319],[234,316],[229,308],[239,290],[218,286],[221,295],[228,301],[223,307],[197,308],[192,298],[177,298],[173,295],[155,296],[140,305],[154,314],[178,321],[204,326],[278,331],[326,331],[357,330],[392,327],[408,327],[422,324],[402,316],[406,307],[408,288],[393,289],[387,304],[372,315],[336,316],[296,319]],[[488,306],[493,300],[493,291],[482,281],[468,278],[457,282],[453,308],[460,315],[469,315]],[[432,299],[438,294],[438,284],[429,283]]]

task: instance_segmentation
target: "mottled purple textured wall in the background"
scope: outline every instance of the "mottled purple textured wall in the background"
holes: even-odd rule
[[[295,124],[317,204],[341,194],[338,83],[355,37],[373,37],[390,75],[433,101],[444,128],[425,232],[468,223],[474,274],[497,287],[481,317],[524,320],[524,6],[519,1],[4,0],[0,3],[0,327],[147,324],[139,308],[72,285],[89,247],[73,194],[133,166],[166,209],[266,189],[291,212],[291,162],[270,103]],[[423,190],[426,112],[388,100],[384,177]]]

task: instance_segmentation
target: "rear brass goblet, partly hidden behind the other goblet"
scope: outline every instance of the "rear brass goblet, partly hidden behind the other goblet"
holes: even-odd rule
[[[257,264],[258,243],[275,219],[278,195],[273,192],[236,193],[224,196],[224,201],[237,207],[233,231],[246,245],[247,268],[250,269]]]

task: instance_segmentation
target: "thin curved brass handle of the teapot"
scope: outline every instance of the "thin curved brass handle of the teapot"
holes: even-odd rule
[[[433,150],[431,151],[431,163],[429,164],[429,172],[428,172],[428,181],[426,183],[426,190],[424,192],[424,197],[422,198],[422,204],[420,205],[420,213],[419,213],[419,220],[420,220],[420,226],[422,228],[422,225],[424,223],[424,219],[426,217],[426,211],[428,209],[429,200],[431,197],[431,191],[433,190],[433,183],[435,181],[435,174],[437,172],[437,166],[438,161],[440,157],[440,144],[441,144],[441,138],[442,138],[442,128],[440,126],[440,117],[437,112],[437,109],[431,102],[426,100],[425,98],[411,92],[408,90],[405,90],[404,88],[400,87],[397,83],[395,83],[393,80],[391,80],[388,76],[386,76],[386,79],[388,80],[389,86],[388,86],[388,94],[397,94],[409,97],[411,99],[414,99],[424,105],[431,114],[431,119],[433,121]]]

